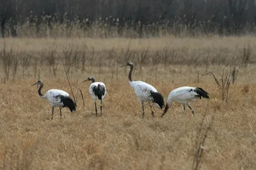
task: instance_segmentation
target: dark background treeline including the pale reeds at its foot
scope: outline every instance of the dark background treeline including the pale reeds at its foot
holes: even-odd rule
[[[255,0],[0,0],[1,36],[196,36],[256,31]]]

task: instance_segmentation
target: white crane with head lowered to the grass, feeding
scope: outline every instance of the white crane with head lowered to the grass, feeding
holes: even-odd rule
[[[184,86],[177,89],[173,89],[173,91],[171,91],[171,93],[168,96],[166,106],[161,117],[163,118],[164,114],[166,114],[169,107],[172,106],[173,102],[182,104],[184,112],[186,112],[185,105],[188,105],[189,109],[192,111],[192,114],[194,115],[195,111],[190,107],[189,102],[194,102],[196,101],[197,98],[201,99],[201,97],[210,98],[209,93],[204,91],[204,89],[202,88]]]

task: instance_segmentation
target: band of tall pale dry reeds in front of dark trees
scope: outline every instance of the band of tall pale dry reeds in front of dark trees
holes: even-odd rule
[[[184,38],[187,36],[255,34],[256,26],[252,20],[250,21],[250,17],[247,18],[248,22],[246,23],[241,21],[243,12],[239,13],[242,18],[238,19],[240,21],[237,23],[235,22],[237,17],[228,17],[228,15],[236,15],[236,12],[226,13],[222,19],[218,17],[216,19],[215,15],[208,16],[208,19],[204,17],[204,19],[200,19],[199,16],[185,13],[181,16],[178,16],[180,14],[169,16],[169,19],[167,16],[162,16],[165,19],[159,16],[159,19],[148,20],[147,17],[141,15],[141,20],[112,16],[92,20],[92,18],[89,19],[90,16],[87,16],[89,18],[72,17],[70,16],[71,13],[63,13],[63,16],[60,16],[60,13],[36,15],[31,11],[26,17],[13,16],[14,18],[5,20],[3,35],[1,36],[19,38],[152,38],[172,35]],[[143,15],[147,14],[144,13]]]

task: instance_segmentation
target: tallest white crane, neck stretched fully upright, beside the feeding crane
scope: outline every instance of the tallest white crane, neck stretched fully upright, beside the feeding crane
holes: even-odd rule
[[[132,70],[133,70],[133,63],[129,61],[128,63],[122,65],[122,66],[130,66],[130,72],[129,72],[129,84],[132,88],[134,88],[136,96],[139,98],[140,103],[142,105],[142,118],[144,118],[144,102],[149,102],[150,109],[152,116],[154,118],[154,111],[152,110],[152,106],[150,102],[155,103],[160,109],[164,107],[164,98],[157,91],[156,88],[151,86],[150,84],[147,84],[147,82],[143,81],[132,81]],[[120,67],[122,67],[120,66]]]

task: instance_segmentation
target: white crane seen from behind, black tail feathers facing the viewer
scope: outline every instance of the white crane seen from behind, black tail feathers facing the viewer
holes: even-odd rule
[[[92,98],[94,100],[96,116],[98,116],[97,104],[96,104],[97,99],[100,100],[100,115],[102,115],[102,106],[103,106],[102,100],[107,93],[106,86],[103,82],[95,82],[95,79],[93,76],[88,77],[88,79],[86,79],[85,81],[92,81],[92,84],[90,85],[90,88],[89,88],[89,92],[92,95]]]

